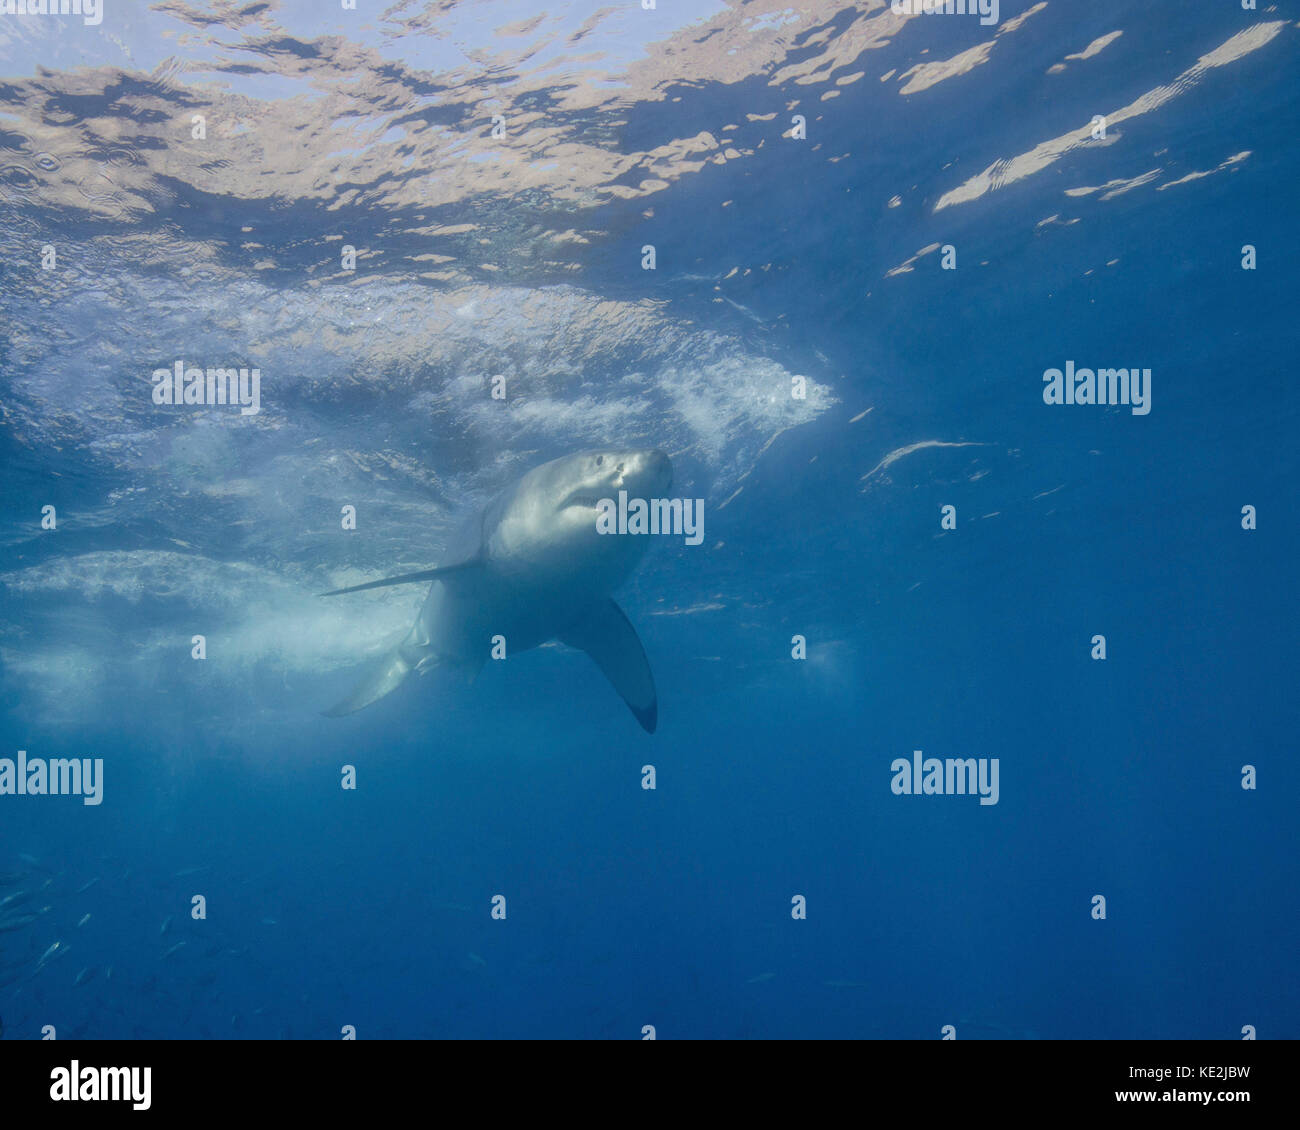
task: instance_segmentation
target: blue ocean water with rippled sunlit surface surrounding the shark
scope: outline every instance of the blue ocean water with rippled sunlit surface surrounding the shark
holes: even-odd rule
[[[0,795],[4,1035],[1300,1035],[1292,7],[359,7],[0,14],[0,758],[103,759]],[[321,716],[422,588],[316,593],[603,446],[705,502],[655,733]]]

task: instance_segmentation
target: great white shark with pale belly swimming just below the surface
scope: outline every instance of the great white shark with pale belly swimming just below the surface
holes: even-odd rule
[[[559,640],[586,651],[654,733],[654,676],[636,629],[610,596],[637,567],[649,538],[599,533],[602,498],[654,498],[672,485],[663,451],[582,451],[534,467],[451,538],[430,570],[321,593],[337,597],[432,581],[406,638],[337,706],[351,714],[395,690],[412,671],[454,668],[473,677],[493,638],[506,654]]]

